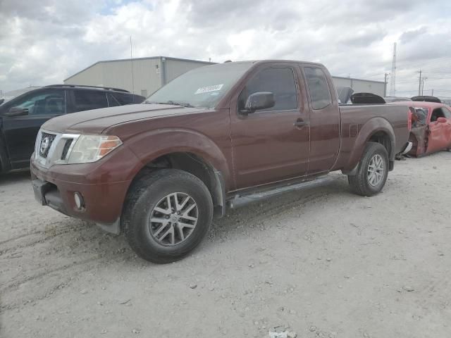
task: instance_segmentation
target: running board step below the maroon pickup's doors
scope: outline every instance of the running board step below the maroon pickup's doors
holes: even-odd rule
[[[294,190],[302,190],[310,187],[321,187],[334,180],[333,177],[323,177],[316,180],[310,180],[306,182],[300,182],[295,184],[288,184],[283,187],[277,187],[275,189],[267,190],[265,192],[256,192],[254,194],[248,194],[244,196],[236,195],[233,199],[227,201],[227,205],[231,209],[240,208],[247,204],[251,204],[262,199],[268,199],[273,196],[283,194],[285,192],[292,192]]]

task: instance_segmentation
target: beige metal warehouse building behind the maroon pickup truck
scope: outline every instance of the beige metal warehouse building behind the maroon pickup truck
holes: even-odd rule
[[[214,63],[165,56],[99,61],[68,77],[64,83],[116,87],[148,96],[188,70],[212,64]],[[350,77],[333,77],[333,81],[335,86],[351,87],[354,92],[370,92],[385,96],[384,82]]]

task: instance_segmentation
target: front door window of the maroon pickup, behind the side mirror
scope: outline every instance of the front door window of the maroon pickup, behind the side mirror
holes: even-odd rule
[[[238,97],[238,109],[244,109],[247,97],[257,92],[274,94],[276,104],[265,111],[288,111],[297,108],[295,75],[291,68],[267,68],[259,71],[242,89]]]

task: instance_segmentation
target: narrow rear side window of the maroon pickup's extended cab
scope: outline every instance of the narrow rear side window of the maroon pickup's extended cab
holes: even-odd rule
[[[323,109],[332,103],[330,99],[329,86],[321,68],[304,67],[305,77],[307,77],[307,87],[309,87],[309,96],[311,108]]]

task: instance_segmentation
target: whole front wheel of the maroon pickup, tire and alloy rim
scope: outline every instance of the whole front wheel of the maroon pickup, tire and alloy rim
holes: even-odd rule
[[[158,170],[130,188],[123,211],[125,237],[138,256],[171,263],[204,238],[213,202],[204,182],[182,170]]]

